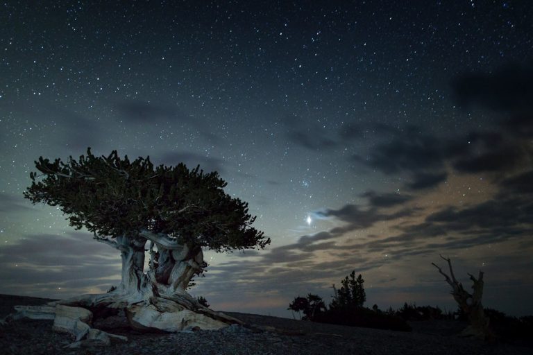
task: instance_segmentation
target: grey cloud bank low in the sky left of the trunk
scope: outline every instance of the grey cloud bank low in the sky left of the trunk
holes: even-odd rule
[[[26,236],[0,248],[0,293],[61,297],[120,279],[120,254],[86,232]]]

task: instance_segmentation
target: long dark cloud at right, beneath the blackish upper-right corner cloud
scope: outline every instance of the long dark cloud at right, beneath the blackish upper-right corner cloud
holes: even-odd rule
[[[521,129],[509,122],[516,122]],[[532,159],[533,146],[529,140],[533,136],[533,121],[504,120],[494,130],[470,132],[456,139],[398,133],[391,141],[378,144],[368,157],[356,155],[352,159],[385,175],[406,173],[410,181],[405,187],[411,190],[429,189],[445,181],[448,164],[459,173],[491,173],[501,178]]]

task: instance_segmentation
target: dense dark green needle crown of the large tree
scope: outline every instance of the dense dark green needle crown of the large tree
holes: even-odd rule
[[[62,162],[40,157],[24,197],[59,206],[76,230],[95,236],[137,237],[142,230],[167,234],[191,246],[217,252],[264,248],[270,243],[251,227],[248,203],[224,193],[219,174],[185,164],[154,166],[150,157],[130,162],[117,150]]]

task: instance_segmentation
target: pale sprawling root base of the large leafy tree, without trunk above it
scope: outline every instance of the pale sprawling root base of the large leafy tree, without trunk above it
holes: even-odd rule
[[[85,343],[109,345],[112,340],[128,339],[93,329],[92,322],[117,314],[118,310],[124,310],[128,324],[137,331],[174,333],[216,330],[230,324],[244,324],[236,318],[202,306],[187,294],[132,300],[128,295],[106,293],[50,302],[46,306],[15,306],[15,313],[0,320],[0,325],[21,318],[53,320],[54,331],[69,334],[74,340],[68,347],[79,347]]]

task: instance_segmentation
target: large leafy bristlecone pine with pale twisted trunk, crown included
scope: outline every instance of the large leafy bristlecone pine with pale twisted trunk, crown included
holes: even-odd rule
[[[58,206],[71,226],[121,253],[121,283],[103,295],[60,302],[103,314],[124,309],[132,327],[163,330],[217,329],[238,322],[198,303],[185,290],[203,272],[202,248],[217,252],[264,248],[270,243],[251,227],[248,204],[224,193],[217,172],[199,166],[154,166],[149,157],[130,162],[113,150],[67,162],[40,157],[24,197]],[[145,245],[148,248],[145,250]],[[144,270],[149,251],[149,270]],[[176,323],[176,324],[174,324]],[[180,324],[179,324],[180,323]]]

